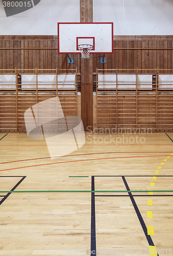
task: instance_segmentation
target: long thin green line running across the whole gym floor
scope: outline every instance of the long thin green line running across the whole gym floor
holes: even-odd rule
[[[173,190],[31,190],[31,191],[0,191],[0,193],[147,193],[173,192]]]

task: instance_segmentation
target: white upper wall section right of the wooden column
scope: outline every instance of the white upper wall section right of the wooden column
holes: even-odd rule
[[[94,22],[114,22],[114,35],[172,35],[173,0],[94,0]]]

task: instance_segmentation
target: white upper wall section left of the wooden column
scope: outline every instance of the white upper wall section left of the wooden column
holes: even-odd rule
[[[80,22],[80,0],[41,0],[35,7],[9,17],[0,0],[1,35],[57,35],[58,22]]]

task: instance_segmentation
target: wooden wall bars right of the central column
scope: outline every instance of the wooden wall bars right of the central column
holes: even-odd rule
[[[138,87],[138,73],[136,69],[136,86],[134,88],[117,87],[118,74],[134,74],[132,70],[97,70],[102,74],[115,74],[116,83],[113,86],[105,82],[104,87],[98,85],[96,76],[96,129],[98,131],[106,129],[151,129],[153,132],[173,131],[173,88],[158,82],[158,73],[165,74],[167,70],[156,69],[153,75],[151,86],[147,84]],[[145,70],[152,74],[151,70]],[[109,74],[108,74],[109,73]],[[171,73],[169,73],[170,75]],[[105,79],[105,81],[107,81]],[[102,83],[100,83],[102,84]],[[127,82],[128,84],[128,82]],[[163,86],[163,87],[162,87]],[[118,88],[118,89],[117,89]]]

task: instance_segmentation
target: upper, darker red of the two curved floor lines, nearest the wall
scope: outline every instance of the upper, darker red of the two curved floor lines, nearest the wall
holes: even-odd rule
[[[90,154],[78,154],[78,155],[65,155],[61,157],[73,157],[73,156],[87,156],[87,155],[98,155],[98,154],[116,154],[116,153],[171,153],[172,151],[142,151],[142,152],[102,152],[102,153],[90,153]],[[32,159],[24,159],[24,160],[17,160],[17,161],[9,161],[9,162],[3,162],[4,163],[16,163],[16,162],[24,162],[24,161],[32,161],[32,160],[40,160],[40,159],[49,159],[51,157],[41,157],[41,158],[32,158]]]

